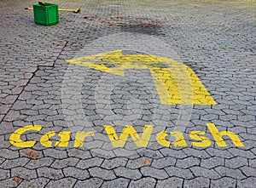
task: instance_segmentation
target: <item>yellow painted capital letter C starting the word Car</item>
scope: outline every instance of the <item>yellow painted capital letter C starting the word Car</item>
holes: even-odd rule
[[[20,136],[27,131],[40,131],[41,128],[41,125],[27,125],[23,128],[18,128],[10,135],[9,142],[11,145],[15,145],[16,147],[32,147],[36,144],[36,140],[24,141],[20,139]]]

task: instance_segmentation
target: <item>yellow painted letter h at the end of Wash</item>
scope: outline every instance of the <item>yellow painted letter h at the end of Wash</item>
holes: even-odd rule
[[[213,139],[216,141],[216,143],[219,147],[227,146],[226,142],[223,139],[223,136],[229,136],[230,140],[233,141],[233,143],[234,143],[234,145],[236,145],[236,147],[243,147],[244,146],[242,144],[241,140],[239,139],[239,137],[236,134],[234,134],[230,131],[219,132],[218,128],[216,128],[216,126],[213,123],[207,123],[207,127],[209,128]]]

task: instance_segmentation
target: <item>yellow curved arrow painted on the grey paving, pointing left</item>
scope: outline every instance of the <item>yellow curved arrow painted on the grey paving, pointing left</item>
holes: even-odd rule
[[[122,54],[122,50],[67,60],[125,77],[125,69],[148,69],[161,104],[216,105],[195,72],[176,60],[151,54]]]

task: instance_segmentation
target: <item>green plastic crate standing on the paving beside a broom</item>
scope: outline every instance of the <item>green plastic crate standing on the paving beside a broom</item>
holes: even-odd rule
[[[44,3],[41,7],[38,3],[33,4],[35,24],[50,26],[59,23],[58,5]]]

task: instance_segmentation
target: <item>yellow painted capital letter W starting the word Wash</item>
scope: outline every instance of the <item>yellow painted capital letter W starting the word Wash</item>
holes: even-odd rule
[[[131,136],[131,139],[135,142],[135,144],[138,147],[146,147],[150,140],[153,127],[154,127],[153,125],[145,125],[145,127],[143,128],[142,137],[140,137],[137,134],[137,131],[135,130],[135,128],[133,128],[131,125],[128,125],[128,126],[125,126],[122,133],[118,137],[118,135],[115,133],[113,126],[111,125],[104,126],[105,131],[108,134],[108,139],[111,141],[113,147],[124,147],[129,135]]]

